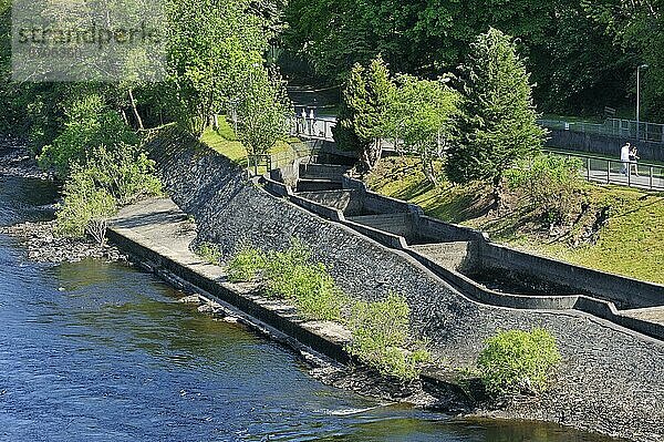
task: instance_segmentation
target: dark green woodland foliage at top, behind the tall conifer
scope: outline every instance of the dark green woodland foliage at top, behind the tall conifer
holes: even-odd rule
[[[613,44],[589,17],[601,3],[291,0],[284,41],[329,81],[345,79],[355,63],[376,54],[394,72],[435,78],[459,65],[475,35],[494,27],[519,39],[539,102],[549,110],[596,112],[625,103],[625,68],[634,65],[633,51]],[[657,30],[651,23],[649,34]]]

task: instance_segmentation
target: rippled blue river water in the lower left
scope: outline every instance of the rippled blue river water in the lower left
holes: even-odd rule
[[[0,225],[48,217],[55,197],[0,176]],[[180,296],[127,265],[31,263],[0,235],[0,441],[609,441],[325,387],[287,349]]]

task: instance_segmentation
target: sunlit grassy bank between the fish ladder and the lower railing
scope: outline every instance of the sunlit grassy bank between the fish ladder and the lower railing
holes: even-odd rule
[[[567,232],[551,235],[525,202],[512,202],[512,209],[497,216],[490,212],[487,186],[444,183],[434,187],[415,158],[386,158],[366,181],[375,192],[417,204],[427,215],[442,220],[487,232],[497,243],[664,284],[664,193],[583,184],[579,206],[583,202],[588,209],[579,210],[578,219]],[[601,226],[593,226],[602,212],[608,219]],[[587,233],[593,227],[596,232],[588,238]]]

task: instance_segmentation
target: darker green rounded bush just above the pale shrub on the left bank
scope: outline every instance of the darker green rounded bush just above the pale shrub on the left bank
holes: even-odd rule
[[[54,168],[61,178],[66,178],[72,166],[82,164],[94,148],[137,143],[120,114],[110,110],[97,94],[74,100],[65,114],[64,130],[39,156],[40,165]]]

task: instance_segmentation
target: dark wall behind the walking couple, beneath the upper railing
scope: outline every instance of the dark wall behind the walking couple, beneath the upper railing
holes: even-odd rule
[[[664,143],[635,141],[619,136],[600,135],[582,132],[572,132],[553,129],[550,130],[550,140],[546,145],[549,147],[578,151],[585,154],[601,154],[620,158],[620,148],[625,142],[635,144],[639,156],[644,162],[664,162]]]

